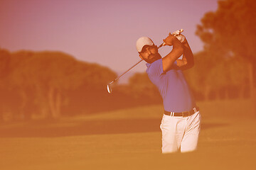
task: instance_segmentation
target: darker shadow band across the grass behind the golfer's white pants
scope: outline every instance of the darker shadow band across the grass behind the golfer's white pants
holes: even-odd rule
[[[65,137],[137,132],[161,132],[159,119],[88,120],[81,122],[32,122],[0,127],[0,137]],[[223,127],[222,123],[203,123],[201,130]]]

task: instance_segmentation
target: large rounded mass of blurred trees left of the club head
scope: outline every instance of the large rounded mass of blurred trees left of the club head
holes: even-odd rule
[[[0,119],[58,118],[81,105],[92,108],[115,77],[107,67],[63,52],[0,50]]]

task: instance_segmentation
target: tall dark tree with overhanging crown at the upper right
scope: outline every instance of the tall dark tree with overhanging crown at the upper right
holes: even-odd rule
[[[242,57],[250,63],[253,103],[256,103],[255,8],[254,0],[218,1],[217,11],[206,13],[196,30],[205,50],[220,53],[222,57],[226,54]]]

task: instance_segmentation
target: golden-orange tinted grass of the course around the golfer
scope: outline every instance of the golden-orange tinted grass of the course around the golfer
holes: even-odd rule
[[[196,152],[161,154],[162,106],[0,125],[0,169],[253,169],[249,101],[198,103]]]

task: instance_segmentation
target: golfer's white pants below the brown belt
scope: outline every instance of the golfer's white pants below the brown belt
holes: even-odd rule
[[[163,115],[160,125],[162,153],[195,150],[201,128],[200,122],[199,111],[188,117]]]

